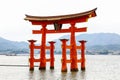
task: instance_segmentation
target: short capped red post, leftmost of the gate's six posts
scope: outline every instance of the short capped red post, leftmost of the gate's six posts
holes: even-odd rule
[[[28,40],[30,45],[30,58],[29,58],[29,61],[30,61],[30,70],[34,70],[34,42],[36,42],[36,40]]]

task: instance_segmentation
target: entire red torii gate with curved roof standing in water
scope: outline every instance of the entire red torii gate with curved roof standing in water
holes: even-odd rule
[[[60,16],[30,16],[26,15],[25,20],[28,20],[32,25],[41,25],[41,30],[33,30],[33,34],[42,34],[40,46],[35,46],[36,40],[30,42],[30,70],[34,70],[34,62],[40,62],[39,69],[46,69],[46,62],[50,62],[50,68],[54,69],[54,43],[49,42],[50,46],[46,46],[46,34],[50,33],[71,33],[70,45],[66,45],[67,39],[61,39],[62,42],[62,70],[67,71],[66,63],[71,63],[71,71],[78,71],[78,62],[81,62],[81,70],[85,70],[85,42],[79,41],[80,46],[76,46],[75,32],[86,32],[87,27],[77,28],[76,23],[87,22],[89,18],[96,16],[96,9],[69,15]],[[54,24],[55,30],[48,30],[47,25]],[[62,29],[62,24],[70,24],[69,29]],[[34,49],[40,49],[40,59],[34,58]],[[46,49],[50,49],[50,59],[46,59]],[[66,49],[70,49],[70,60],[66,59]],[[81,59],[77,59],[77,49],[81,50]]]

